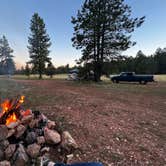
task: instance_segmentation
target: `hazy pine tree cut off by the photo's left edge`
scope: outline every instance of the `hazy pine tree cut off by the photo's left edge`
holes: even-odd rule
[[[15,63],[13,50],[10,48],[5,36],[0,39],[0,70],[1,74],[14,74]]]

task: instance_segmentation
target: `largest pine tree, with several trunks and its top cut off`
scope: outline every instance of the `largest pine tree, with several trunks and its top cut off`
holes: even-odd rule
[[[73,46],[82,50],[80,63],[92,63],[95,81],[100,80],[104,61],[110,61],[135,45],[131,33],[145,17],[131,18],[124,0],[85,0],[74,24]]]

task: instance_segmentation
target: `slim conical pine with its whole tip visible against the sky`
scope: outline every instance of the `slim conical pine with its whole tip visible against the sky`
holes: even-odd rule
[[[45,72],[46,63],[50,62],[49,50],[51,46],[50,38],[46,32],[43,19],[35,13],[31,20],[31,35],[28,38],[29,42],[29,63],[33,66],[33,71],[39,74],[39,79],[42,79],[42,74]]]

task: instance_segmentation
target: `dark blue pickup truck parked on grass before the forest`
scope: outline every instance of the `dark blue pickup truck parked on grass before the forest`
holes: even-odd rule
[[[114,83],[119,83],[120,81],[125,82],[139,82],[140,84],[147,84],[148,82],[153,82],[153,75],[137,75],[134,72],[122,72],[119,75],[111,76],[111,80]]]

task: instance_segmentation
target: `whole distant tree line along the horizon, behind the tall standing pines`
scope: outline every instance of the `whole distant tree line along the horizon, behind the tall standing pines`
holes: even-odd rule
[[[69,64],[59,67],[46,67],[44,74],[51,78],[55,74],[69,73],[71,70],[78,68],[80,71],[86,72],[93,70],[91,64],[86,64],[82,67],[80,65],[70,67]],[[136,56],[121,56],[111,62],[103,63],[102,75],[109,76],[110,74],[117,74],[120,72],[135,72],[138,74],[166,74],[166,48],[158,48],[154,54],[147,56],[141,50],[138,51]],[[16,70],[15,74],[37,74],[26,65],[21,69]],[[84,72],[85,74],[85,72]]]

